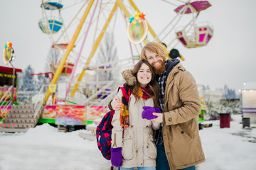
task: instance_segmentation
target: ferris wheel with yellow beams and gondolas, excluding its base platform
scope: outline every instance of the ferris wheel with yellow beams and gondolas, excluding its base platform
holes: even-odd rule
[[[166,2],[170,3],[171,1]],[[58,56],[55,57],[55,60],[50,61],[50,67],[54,72],[50,84],[55,84],[62,74],[70,75],[69,81],[76,83],[73,89],[68,86],[70,96],[73,96],[86,71],[102,69],[107,72],[115,69],[120,72],[125,67],[132,67],[134,64],[132,61],[139,57],[143,44],[149,40],[161,43],[171,59],[180,57],[181,60],[183,57],[178,50],[174,49],[177,45],[176,41],[188,48],[207,45],[213,36],[213,27],[208,25],[196,26],[196,19],[200,11],[210,6],[208,1],[190,2],[189,0],[183,2],[178,0],[178,2],[179,5],[176,5],[174,9],[177,13],[176,16],[167,23],[163,31],[156,34],[147,23],[144,15],[146,11],[139,11],[132,0],[80,0],[71,3],[68,0],[42,1],[42,18],[38,22],[38,26],[43,33],[48,35],[52,43],[51,50],[56,51],[55,55]],[[189,14],[192,16],[191,20],[181,30],[175,30],[181,18]],[[124,26],[121,26],[120,21],[117,22],[117,20],[122,20]],[[117,33],[120,30],[123,31],[123,34]],[[170,34],[174,30],[176,31],[176,38],[171,40],[168,37],[173,37]],[[128,52],[129,55],[126,55],[128,57],[124,57],[120,61],[97,65],[93,63],[92,58],[97,53],[97,48],[107,31],[110,32],[110,35],[117,34],[117,45],[122,45],[125,42],[122,47],[127,47],[130,53]],[[70,35],[73,37],[70,38]],[[121,35],[125,35],[124,40],[121,40]],[[107,52],[107,57],[110,57],[109,53]],[[75,72],[78,73],[77,79],[74,79]],[[50,92],[48,91],[45,101],[49,95]]]

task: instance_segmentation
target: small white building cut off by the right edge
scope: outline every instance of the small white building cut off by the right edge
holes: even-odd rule
[[[250,123],[256,123],[256,81],[247,81],[242,91],[242,116],[250,118]]]

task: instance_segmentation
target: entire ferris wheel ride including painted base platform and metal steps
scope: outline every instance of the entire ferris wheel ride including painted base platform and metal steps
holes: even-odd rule
[[[102,113],[106,113],[107,103],[117,93],[117,87],[122,84],[122,81],[118,80],[119,74],[116,79],[100,81],[100,72],[114,74],[131,68],[136,62],[134,60],[138,60],[143,44],[149,41],[159,42],[170,59],[178,57],[180,60],[184,58],[175,49],[178,43],[187,48],[208,44],[213,37],[213,26],[210,23],[196,23],[199,13],[211,6],[208,1],[170,0],[166,1],[166,4],[175,6],[176,15],[159,34],[156,34],[154,26],[149,25],[146,11],[140,11],[132,0],[42,0],[42,18],[38,26],[42,33],[48,35],[51,42],[48,56],[50,70],[47,71],[47,74],[52,74],[50,84],[44,85],[34,96],[33,105],[29,106],[32,110],[28,111],[26,106],[1,109],[4,119],[0,126],[15,131],[18,128],[31,128],[36,123],[88,125],[100,118]],[[183,16],[191,18],[182,22]],[[117,19],[124,21],[126,26],[122,27],[121,21],[117,23]],[[177,28],[178,23],[183,26]],[[127,47],[130,54],[122,54],[122,57],[118,57],[119,60],[110,60],[109,49],[106,51],[105,61],[96,60],[98,64],[95,64],[93,57],[95,54],[99,55],[97,49],[102,45],[104,35],[111,35],[108,42],[112,45],[113,35],[118,31],[123,31],[116,37],[118,45],[122,46],[118,50]],[[70,35],[73,37],[70,38]],[[126,38],[119,40],[122,35]],[[22,108],[25,110],[22,111]],[[18,126],[18,122],[26,120],[23,112],[33,112],[33,125]],[[11,119],[14,118],[10,117],[12,114],[21,118]],[[28,114],[27,116],[30,117]]]

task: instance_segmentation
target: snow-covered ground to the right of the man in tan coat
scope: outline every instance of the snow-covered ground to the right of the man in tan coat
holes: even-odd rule
[[[242,170],[256,169],[256,125],[242,129],[241,116],[232,115],[230,128],[220,129],[219,120],[211,121],[213,128],[200,130],[206,162],[198,170]],[[246,133],[248,137],[242,137]],[[249,142],[253,140],[254,142]]]

